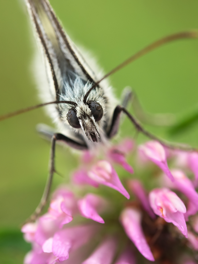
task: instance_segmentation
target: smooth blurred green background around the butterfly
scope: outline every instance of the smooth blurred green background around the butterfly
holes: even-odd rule
[[[158,38],[198,28],[194,0],[51,0],[72,40],[91,50],[106,72]],[[39,103],[31,73],[34,41],[26,7],[1,1],[0,114]],[[130,85],[151,113],[178,117],[198,109],[198,40],[179,40],[159,48],[117,72],[110,79],[117,97]],[[38,109],[0,123],[0,263],[22,263],[29,245],[20,224],[34,211],[44,189],[50,144],[35,130],[51,121]],[[125,121],[121,135],[130,135]],[[198,122],[177,136],[167,128],[150,131],[172,141],[198,146]],[[133,132],[134,134],[134,132]],[[76,166],[69,149],[57,148],[56,167],[66,179]],[[64,180],[55,175],[54,186]]]

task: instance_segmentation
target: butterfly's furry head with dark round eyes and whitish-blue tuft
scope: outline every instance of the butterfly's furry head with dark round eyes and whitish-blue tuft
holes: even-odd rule
[[[104,121],[106,121],[107,100],[105,100],[104,93],[101,89],[96,88],[89,95],[89,100],[84,102],[84,96],[91,88],[91,85],[88,83],[84,84],[79,78],[71,82],[71,85],[72,87],[68,83],[65,84],[60,98],[74,101],[76,106],[72,106],[71,109],[68,109],[69,106],[66,105],[59,107],[60,118],[67,126],[69,124],[69,127],[75,129],[74,132],[79,133],[78,130],[80,129],[89,141],[98,142],[101,139],[99,126],[103,128]]]

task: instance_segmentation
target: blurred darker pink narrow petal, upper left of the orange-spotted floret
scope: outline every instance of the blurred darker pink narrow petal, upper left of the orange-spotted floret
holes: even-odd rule
[[[131,189],[131,191],[135,194],[135,196],[141,202],[144,210],[149,214],[149,216],[152,219],[155,219],[156,216],[150,207],[148,195],[146,194],[146,191],[145,191],[144,187],[142,186],[142,183],[139,180],[130,180],[128,182],[128,185],[129,185],[129,188]]]

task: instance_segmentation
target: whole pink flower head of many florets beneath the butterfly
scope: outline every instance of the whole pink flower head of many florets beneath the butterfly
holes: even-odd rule
[[[143,170],[140,172],[137,166],[136,177],[129,176],[134,170],[126,161],[132,151],[133,156],[138,154],[134,167],[137,163]],[[32,243],[24,263],[195,263],[198,153],[169,150],[157,141],[136,147],[126,139],[103,150],[102,159],[98,156],[85,151],[79,169],[72,175],[73,186],[57,189],[48,212],[22,227],[25,240]],[[174,169],[169,169],[167,158]],[[154,166],[149,165],[151,162]],[[120,175],[122,182],[114,164],[127,171],[123,171],[125,177]],[[193,173],[194,180],[185,172]],[[138,173],[152,175],[144,180],[144,185],[154,185],[149,193],[137,180]],[[114,189],[110,195],[108,187]],[[128,200],[121,199],[118,192]],[[138,251],[143,255],[138,257],[140,262]]]

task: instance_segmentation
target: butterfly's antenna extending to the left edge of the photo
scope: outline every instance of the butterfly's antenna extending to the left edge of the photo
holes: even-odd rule
[[[45,105],[48,105],[48,104],[62,104],[62,103],[64,103],[64,104],[72,104],[74,106],[77,105],[75,102],[72,102],[72,101],[53,101],[53,102],[44,103],[44,104],[37,104],[37,105],[34,105],[34,106],[29,106],[27,108],[19,109],[17,111],[12,112],[12,113],[8,113],[8,114],[5,114],[5,115],[2,115],[2,116],[0,116],[0,121],[8,119],[8,118],[13,117],[13,116],[17,116],[19,114],[23,114],[23,113],[29,112],[31,110],[37,109],[39,107],[42,107],[42,106],[45,106]]]

